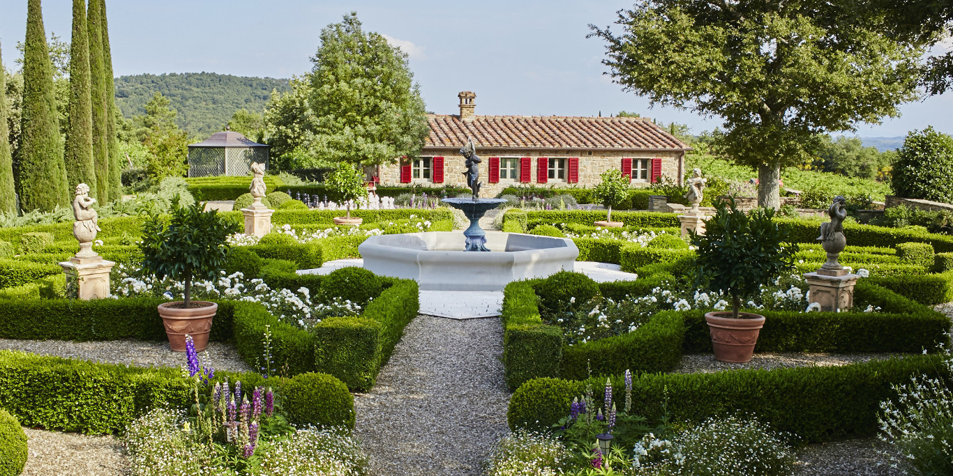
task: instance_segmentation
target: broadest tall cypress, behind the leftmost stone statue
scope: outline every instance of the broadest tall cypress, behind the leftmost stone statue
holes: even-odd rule
[[[23,146],[20,148],[20,203],[25,210],[49,211],[69,205],[63,139],[40,0],[27,3],[23,52]]]

